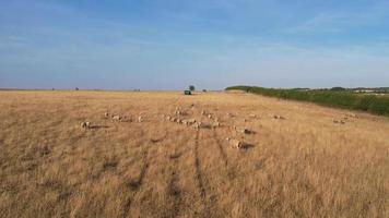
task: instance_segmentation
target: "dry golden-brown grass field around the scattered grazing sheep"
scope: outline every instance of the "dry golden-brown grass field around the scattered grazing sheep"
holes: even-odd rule
[[[347,113],[241,93],[0,92],[0,217],[389,217],[389,120]]]

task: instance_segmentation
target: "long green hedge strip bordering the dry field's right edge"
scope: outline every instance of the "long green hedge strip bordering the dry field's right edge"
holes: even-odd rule
[[[245,90],[282,99],[303,100],[351,110],[362,110],[380,116],[389,116],[389,97],[355,94],[353,92],[316,89],[275,89],[256,86],[232,86],[226,90]]]

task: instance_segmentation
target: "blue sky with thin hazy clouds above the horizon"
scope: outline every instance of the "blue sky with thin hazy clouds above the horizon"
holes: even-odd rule
[[[389,86],[389,0],[1,0],[0,87]]]

